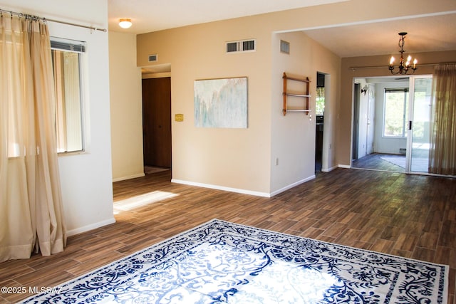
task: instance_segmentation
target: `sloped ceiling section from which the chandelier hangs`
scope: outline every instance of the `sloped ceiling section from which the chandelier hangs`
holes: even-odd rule
[[[338,56],[399,53],[399,32],[407,32],[406,53],[456,50],[456,12],[408,19],[376,21],[305,31]]]

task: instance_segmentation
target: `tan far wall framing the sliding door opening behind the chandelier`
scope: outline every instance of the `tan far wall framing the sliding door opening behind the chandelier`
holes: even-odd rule
[[[434,70],[432,63],[456,62],[456,51],[417,53],[418,70],[416,75],[429,75]],[[388,56],[366,56],[342,59],[341,68],[341,100],[338,108],[339,124],[337,133],[337,162],[345,166],[351,165],[351,130],[353,120],[353,78],[390,76]],[[363,68],[383,66],[384,68]],[[355,69],[353,70],[353,67]],[[356,68],[361,67],[361,68]]]

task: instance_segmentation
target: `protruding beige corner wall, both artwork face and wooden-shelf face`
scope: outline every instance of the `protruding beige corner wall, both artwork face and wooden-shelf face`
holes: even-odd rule
[[[175,182],[269,196],[314,177],[315,114],[282,115],[281,76],[284,71],[308,76],[315,93],[317,71],[331,74],[333,101],[327,111],[331,115],[336,109],[340,59],[304,33],[265,31],[265,22],[264,16],[234,19],[138,36],[138,65],[147,65],[145,59],[155,53],[158,64],[171,63],[172,116],[185,115],[184,122],[172,122]],[[281,37],[291,42],[290,56],[279,52]],[[257,51],[225,53],[226,41],[247,38],[256,39]],[[249,78],[248,128],[195,127],[194,81],[238,76]],[[329,139],[335,138],[334,127],[328,120]],[[327,154],[330,164],[333,151]]]

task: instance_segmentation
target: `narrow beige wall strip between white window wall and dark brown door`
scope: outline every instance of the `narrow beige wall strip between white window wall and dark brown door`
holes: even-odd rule
[[[135,35],[109,32],[109,66],[113,181],[141,177],[141,69]]]

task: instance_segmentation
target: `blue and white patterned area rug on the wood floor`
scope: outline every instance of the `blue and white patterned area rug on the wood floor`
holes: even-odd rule
[[[214,219],[25,303],[447,303],[448,266]]]

